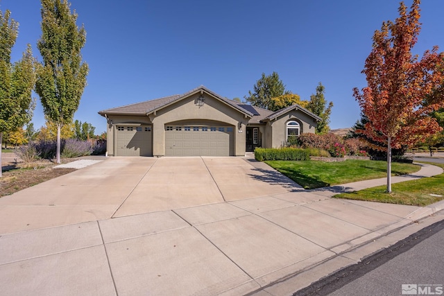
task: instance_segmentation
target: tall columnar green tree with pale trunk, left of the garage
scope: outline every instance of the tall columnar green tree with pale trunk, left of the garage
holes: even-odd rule
[[[85,28],[76,25],[67,0],[42,1],[42,36],[37,47],[43,62],[37,71],[35,92],[44,114],[57,125],[56,162],[60,164],[60,130],[71,123],[86,86],[88,65],[80,50],[86,42]]]

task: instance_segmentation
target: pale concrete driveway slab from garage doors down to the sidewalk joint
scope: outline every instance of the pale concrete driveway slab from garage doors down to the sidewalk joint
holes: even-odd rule
[[[299,187],[273,174],[237,157],[112,157],[0,198],[0,233],[256,198]]]

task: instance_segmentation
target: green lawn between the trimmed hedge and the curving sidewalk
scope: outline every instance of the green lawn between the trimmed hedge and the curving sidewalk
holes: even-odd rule
[[[305,189],[386,177],[386,162],[347,159],[345,162],[269,160],[266,164],[280,171]],[[415,164],[392,164],[392,175],[420,170]]]

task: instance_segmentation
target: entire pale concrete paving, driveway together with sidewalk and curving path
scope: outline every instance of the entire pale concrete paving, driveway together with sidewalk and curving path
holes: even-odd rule
[[[107,159],[0,199],[2,293],[291,294],[444,207],[330,198],[381,182],[305,191],[249,158]]]

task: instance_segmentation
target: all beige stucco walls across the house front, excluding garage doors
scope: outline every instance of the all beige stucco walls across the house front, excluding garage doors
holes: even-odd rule
[[[153,156],[165,155],[165,125],[171,123],[193,123],[205,125],[231,125],[233,132],[233,147],[230,149],[234,156],[244,156],[246,150],[246,125],[250,117],[235,110],[232,106],[214,98],[210,94],[203,93],[205,103],[198,105],[200,92],[183,98],[181,101],[173,103],[149,116],[117,116],[108,115],[108,155],[115,155],[116,147],[116,125],[119,124],[149,124],[153,126]],[[251,127],[258,127],[261,135],[262,147],[279,148],[287,141],[286,125],[290,120],[300,123],[300,133],[315,132],[316,121],[305,112],[292,110],[279,116],[277,119],[267,121],[265,125],[252,124]],[[240,132],[239,132],[240,131]]]

